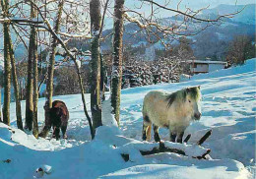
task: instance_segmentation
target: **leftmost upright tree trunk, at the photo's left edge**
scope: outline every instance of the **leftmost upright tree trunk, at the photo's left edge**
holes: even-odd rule
[[[8,16],[9,1],[1,0],[3,17]],[[10,126],[10,101],[11,101],[11,59],[8,51],[8,30],[9,25],[3,24],[4,28],[4,105],[3,105],[3,122]]]

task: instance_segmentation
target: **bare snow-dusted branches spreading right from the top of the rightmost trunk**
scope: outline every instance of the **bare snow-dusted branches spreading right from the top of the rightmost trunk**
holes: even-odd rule
[[[135,23],[141,29],[136,33],[139,31],[144,33],[150,43],[160,41],[168,49],[170,43],[175,39],[178,40],[180,36],[196,35],[211,26],[220,25],[224,19],[232,18],[244,9],[242,8],[230,14],[219,15],[215,19],[209,19],[200,16],[200,13],[208,9],[209,6],[196,11],[185,7],[185,10],[182,11],[180,10],[181,1],[176,5],[176,9],[169,8],[170,3],[170,1],[141,0],[141,5],[137,6],[139,10],[126,9],[124,18],[128,22]],[[151,7],[150,13],[141,13],[140,9],[144,6]],[[162,11],[173,13],[174,21],[160,20],[158,13]],[[199,24],[201,28],[198,28]]]

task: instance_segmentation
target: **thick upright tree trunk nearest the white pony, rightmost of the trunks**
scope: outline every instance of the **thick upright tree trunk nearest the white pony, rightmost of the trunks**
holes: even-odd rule
[[[122,46],[123,46],[123,6],[124,0],[115,0],[114,5],[114,38],[113,38],[113,66],[111,83],[112,113],[119,125],[120,95],[122,85]]]

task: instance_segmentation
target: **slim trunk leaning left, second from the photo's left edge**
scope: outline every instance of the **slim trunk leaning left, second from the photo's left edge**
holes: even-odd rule
[[[18,129],[23,130],[20,89],[19,89],[19,84],[18,84],[16,62],[15,62],[15,57],[14,57],[14,50],[13,50],[13,44],[12,44],[12,38],[11,38],[11,35],[10,35],[10,30],[8,30],[7,34],[8,34],[8,38],[9,38],[8,48],[9,48],[11,64],[12,64],[13,86],[14,86],[15,101],[16,101],[17,127],[18,127]]]

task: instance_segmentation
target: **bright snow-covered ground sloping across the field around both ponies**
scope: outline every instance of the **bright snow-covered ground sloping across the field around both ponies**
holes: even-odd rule
[[[120,129],[106,120],[111,116],[104,114],[103,123],[108,126],[97,129],[93,142],[80,94],[54,97],[65,101],[70,111],[68,140],[36,140],[17,130],[12,103],[11,127],[0,124],[0,178],[39,178],[35,172],[38,167],[46,171],[42,178],[255,178],[255,62],[251,59],[241,67],[197,75],[189,82],[124,89]],[[148,91],[199,85],[203,116],[185,133],[192,134],[192,144],[212,129],[212,136],[203,145],[212,149],[212,159],[198,160],[169,152],[142,156],[133,148],[136,144],[145,146],[141,142],[141,111]],[[89,102],[90,96],[86,96]],[[43,103],[40,98],[40,126]],[[22,104],[25,109],[25,102]],[[160,129],[162,140],[168,140],[168,136],[166,129]],[[128,162],[120,155],[124,150],[130,153]]]

